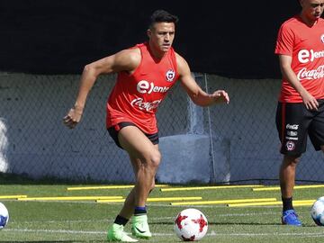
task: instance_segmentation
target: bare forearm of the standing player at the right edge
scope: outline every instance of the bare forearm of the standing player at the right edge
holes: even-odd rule
[[[292,68],[292,57],[288,55],[279,55],[279,63],[282,75],[290,85],[302,96],[302,101],[308,110],[318,110],[319,103],[301,84]]]

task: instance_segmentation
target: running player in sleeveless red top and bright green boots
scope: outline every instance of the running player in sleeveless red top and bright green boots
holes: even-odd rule
[[[108,229],[109,241],[137,241],[123,230],[132,215],[132,235],[151,238],[146,202],[148,193],[155,186],[157,166],[161,160],[155,114],[175,81],[181,82],[197,105],[229,103],[229,95],[224,90],[212,94],[202,91],[187,62],[172,48],[177,21],[175,15],[157,10],[150,17],[147,42],[86,65],[76,103],[63,118],[67,127],[74,128],[81,119],[86,96],[97,77],[118,73],[106,106],[106,127],[116,145],[129,154],[136,182]]]

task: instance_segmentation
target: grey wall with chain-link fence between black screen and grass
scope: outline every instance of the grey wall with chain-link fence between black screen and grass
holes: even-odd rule
[[[105,129],[105,103],[115,76],[99,77],[74,130],[62,118],[75,101],[80,76],[0,77],[0,172],[80,182],[133,181],[128,156]],[[282,160],[275,129],[280,80],[195,77],[209,92],[225,89],[230,103],[197,107],[175,85],[157,112],[165,165],[157,179],[178,182],[181,170],[188,181],[202,183],[277,180]],[[322,153],[309,143],[297,179],[323,181],[322,161]]]

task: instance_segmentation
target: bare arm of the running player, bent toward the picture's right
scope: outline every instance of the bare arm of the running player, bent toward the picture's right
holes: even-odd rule
[[[176,54],[176,65],[179,80],[193,103],[200,106],[209,106],[214,103],[229,103],[229,94],[224,90],[216,90],[212,94],[204,92],[193,79],[188,63],[178,54]]]

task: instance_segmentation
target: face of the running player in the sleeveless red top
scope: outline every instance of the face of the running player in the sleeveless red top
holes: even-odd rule
[[[158,52],[167,52],[175,39],[175,23],[155,23],[148,30],[151,47]]]

